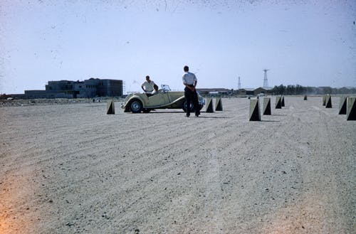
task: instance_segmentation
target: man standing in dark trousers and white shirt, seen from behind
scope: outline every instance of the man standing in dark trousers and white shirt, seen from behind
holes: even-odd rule
[[[187,117],[190,116],[190,103],[193,103],[195,116],[199,117],[200,115],[200,108],[199,108],[199,101],[198,101],[198,94],[195,87],[197,86],[198,80],[194,73],[189,73],[189,67],[184,66],[184,75],[183,75],[183,85],[184,88],[184,97],[185,101],[187,102]]]

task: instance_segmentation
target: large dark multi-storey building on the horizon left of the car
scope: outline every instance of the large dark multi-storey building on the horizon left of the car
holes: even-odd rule
[[[48,81],[46,90],[25,90],[23,98],[91,98],[122,96],[122,80]]]

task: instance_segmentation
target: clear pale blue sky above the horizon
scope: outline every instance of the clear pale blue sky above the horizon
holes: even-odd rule
[[[198,87],[356,87],[356,1],[0,1],[0,93],[145,75]]]

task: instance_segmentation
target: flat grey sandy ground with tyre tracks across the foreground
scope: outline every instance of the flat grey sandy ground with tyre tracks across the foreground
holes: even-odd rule
[[[1,107],[0,233],[355,233],[356,122],[285,102],[261,122],[241,98]]]

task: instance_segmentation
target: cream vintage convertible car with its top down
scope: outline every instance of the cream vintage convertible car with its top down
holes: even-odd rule
[[[187,112],[187,102],[184,98],[184,92],[171,91],[169,85],[161,85],[162,89],[158,90],[155,95],[147,96],[145,93],[132,93],[128,95],[124,102],[121,103],[121,108],[124,112],[148,113],[156,109],[183,109]],[[205,100],[198,94],[199,108],[204,107]],[[192,103],[189,105],[193,112]]]

